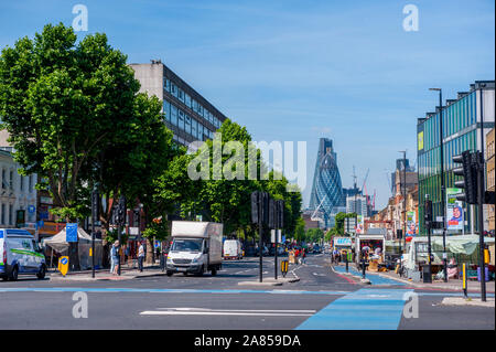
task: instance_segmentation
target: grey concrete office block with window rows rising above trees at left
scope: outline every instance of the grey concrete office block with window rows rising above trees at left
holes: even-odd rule
[[[162,62],[130,66],[141,84],[140,92],[148,92],[163,102],[164,122],[177,143],[187,146],[195,140],[213,139],[226,116]]]

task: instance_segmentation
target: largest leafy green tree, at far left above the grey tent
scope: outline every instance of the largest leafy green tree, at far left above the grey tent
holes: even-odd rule
[[[139,129],[157,118],[158,106],[137,95],[139,82],[126,60],[105,34],[76,43],[73,29],[62,23],[47,24],[33,40],[23,38],[2,50],[2,128],[10,134],[22,172],[46,180],[62,204],[57,214],[67,221],[86,215],[88,184],[97,181],[87,169],[99,164],[98,158],[117,159],[115,168],[121,158],[129,162],[138,156],[133,162],[143,164],[151,160],[140,156],[142,146],[123,147],[142,137]],[[104,186],[108,182],[105,175],[99,181]],[[119,193],[112,191],[114,196]]]

